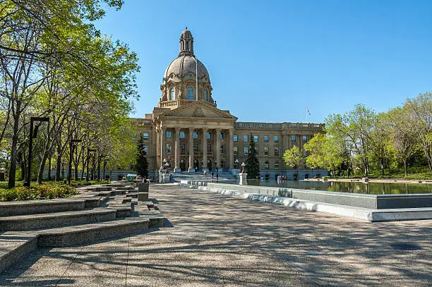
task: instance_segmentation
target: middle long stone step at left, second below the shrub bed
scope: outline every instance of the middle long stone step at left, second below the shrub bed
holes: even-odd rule
[[[100,208],[0,217],[0,231],[29,231],[109,221],[116,219],[117,212],[118,210],[115,208]]]

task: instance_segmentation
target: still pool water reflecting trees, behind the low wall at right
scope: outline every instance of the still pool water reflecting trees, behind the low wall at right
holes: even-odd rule
[[[261,185],[278,188],[300,188],[306,190],[326,190],[340,193],[363,193],[370,195],[399,195],[432,193],[432,184],[428,183],[361,183],[335,181],[258,181],[249,180],[248,185]]]

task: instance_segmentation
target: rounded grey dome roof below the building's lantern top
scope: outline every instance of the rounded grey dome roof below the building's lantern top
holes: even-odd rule
[[[164,73],[164,78],[169,78],[171,74],[178,76],[179,78],[184,78],[189,73],[193,75],[193,79],[195,79],[196,74],[196,61],[194,56],[179,56],[178,58],[172,61],[167,70]],[[205,68],[204,64],[198,60],[198,78],[202,79],[207,77],[210,82],[210,76],[208,75],[207,68]]]

